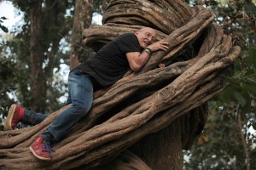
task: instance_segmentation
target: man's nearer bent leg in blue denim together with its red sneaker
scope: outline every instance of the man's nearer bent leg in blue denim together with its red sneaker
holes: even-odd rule
[[[46,161],[50,160],[49,152],[42,152],[44,145],[58,141],[73,127],[79,119],[90,111],[93,101],[93,87],[90,77],[73,71],[68,77],[69,96],[72,106],[55,118],[47,131],[31,145],[30,150],[34,156]]]

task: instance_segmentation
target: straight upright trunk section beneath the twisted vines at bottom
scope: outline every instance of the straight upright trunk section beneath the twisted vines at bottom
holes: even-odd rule
[[[183,147],[180,130],[177,119],[168,127],[138,141],[131,150],[152,169],[182,169]]]

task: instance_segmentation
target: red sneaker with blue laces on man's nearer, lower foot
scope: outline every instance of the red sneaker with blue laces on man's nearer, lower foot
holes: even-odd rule
[[[45,141],[42,136],[39,136],[38,139],[30,145],[29,149],[34,156],[44,161],[50,161],[49,152],[55,151],[50,148],[49,143]]]

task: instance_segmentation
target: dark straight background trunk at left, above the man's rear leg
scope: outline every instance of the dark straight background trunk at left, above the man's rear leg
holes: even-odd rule
[[[31,92],[32,109],[35,111],[45,110],[46,79],[44,77],[43,62],[44,50],[41,43],[42,36],[42,1],[32,3],[31,38],[30,38],[30,61],[31,61]],[[41,96],[38,98],[38,96]]]

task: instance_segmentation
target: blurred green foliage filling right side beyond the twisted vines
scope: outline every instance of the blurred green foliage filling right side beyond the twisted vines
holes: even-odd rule
[[[256,4],[252,1],[193,1],[204,3],[216,21],[241,46],[224,91],[209,102],[207,125],[191,150],[184,169],[256,169]],[[242,121],[242,133],[238,126]],[[246,139],[249,163],[242,139]]]

